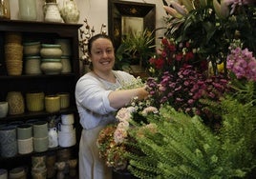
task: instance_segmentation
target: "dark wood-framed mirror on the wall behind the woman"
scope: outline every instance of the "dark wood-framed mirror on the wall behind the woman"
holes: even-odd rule
[[[108,0],[108,19],[109,36],[117,50],[127,33],[156,29],[156,5]]]

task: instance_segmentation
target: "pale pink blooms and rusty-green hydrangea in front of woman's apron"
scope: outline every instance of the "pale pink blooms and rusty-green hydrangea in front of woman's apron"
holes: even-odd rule
[[[126,153],[136,152],[127,142],[134,141],[129,135],[130,122],[133,119],[133,114],[137,112],[134,107],[122,108],[117,111],[117,124],[111,124],[99,132],[97,138],[97,146],[99,156],[105,160],[108,167],[116,170],[126,169],[129,160]],[[142,115],[146,116],[149,112],[158,112],[158,109],[148,107],[142,110]]]

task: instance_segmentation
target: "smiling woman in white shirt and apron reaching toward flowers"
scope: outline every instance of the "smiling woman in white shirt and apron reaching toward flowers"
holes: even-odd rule
[[[83,75],[75,87],[76,106],[83,128],[79,145],[79,178],[111,179],[111,169],[98,156],[98,133],[116,121],[117,109],[129,104],[134,97],[144,99],[148,92],[145,88],[116,90],[135,77],[124,71],[113,70],[115,51],[109,36],[93,36],[89,40],[88,51],[91,71]]]

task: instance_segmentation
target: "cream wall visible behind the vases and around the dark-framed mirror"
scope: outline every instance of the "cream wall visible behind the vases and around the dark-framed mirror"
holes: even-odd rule
[[[43,5],[44,0],[35,0],[37,4],[37,21],[43,21]],[[160,0],[124,0],[139,3],[156,4],[156,28],[164,27],[162,17],[165,11],[162,9],[162,2]],[[65,0],[57,0],[59,8],[62,8]],[[89,25],[94,26],[96,32],[100,30],[101,24],[108,24],[108,0],[75,0],[78,9],[80,10],[79,24],[83,24],[83,20],[87,18]],[[11,5],[11,19],[18,19],[18,0],[10,0]],[[157,31],[157,37],[162,36],[163,30]],[[159,44],[160,41],[157,41]]]

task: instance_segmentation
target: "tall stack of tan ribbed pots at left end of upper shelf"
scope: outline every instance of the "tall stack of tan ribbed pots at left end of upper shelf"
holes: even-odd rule
[[[5,61],[8,75],[21,75],[23,69],[22,36],[18,32],[7,32],[5,40]]]

